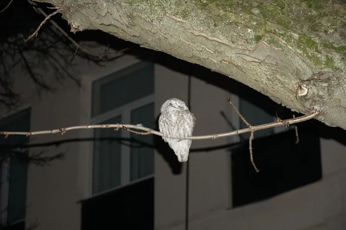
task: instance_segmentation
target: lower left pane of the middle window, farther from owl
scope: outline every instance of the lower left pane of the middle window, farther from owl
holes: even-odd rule
[[[121,123],[121,116],[117,116],[102,124]],[[92,193],[99,193],[120,185],[121,145],[119,143],[121,131],[113,129],[94,130]]]

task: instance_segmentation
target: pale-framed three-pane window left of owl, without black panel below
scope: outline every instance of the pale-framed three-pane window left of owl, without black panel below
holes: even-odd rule
[[[154,66],[141,62],[92,83],[92,124],[143,124],[155,128]],[[152,135],[125,130],[93,132],[92,194],[154,173]]]

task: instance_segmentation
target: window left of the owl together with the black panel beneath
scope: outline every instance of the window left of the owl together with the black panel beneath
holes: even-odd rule
[[[92,124],[155,128],[154,65],[141,62],[92,83]],[[82,201],[82,230],[154,228],[154,139],[93,130],[92,197]]]

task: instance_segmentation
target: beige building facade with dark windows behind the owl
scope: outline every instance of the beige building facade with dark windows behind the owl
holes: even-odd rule
[[[194,135],[246,127],[227,97],[252,125],[276,121],[275,112],[292,117],[225,76],[168,55],[142,56],[125,55],[104,66],[78,60],[70,71],[81,85],[66,80],[41,98],[29,80],[18,78],[15,88],[24,103],[1,112],[0,128],[119,123],[157,130],[160,107],[169,98],[189,105],[197,119]],[[53,74],[46,75],[54,82]],[[250,162],[247,134],[192,141],[188,164],[179,164],[160,137],[125,130],[9,136],[0,143],[7,152],[64,157],[44,166],[2,158],[1,223],[7,229],[36,224],[38,230],[346,229],[345,140],[321,127],[317,121],[302,124],[296,145],[294,127],[256,132],[259,173]]]

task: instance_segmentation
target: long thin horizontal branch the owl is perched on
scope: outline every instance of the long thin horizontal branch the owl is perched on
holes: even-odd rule
[[[217,134],[210,134],[210,135],[202,135],[202,136],[189,136],[187,138],[174,138],[167,136],[167,138],[173,138],[173,139],[189,139],[189,140],[205,140],[205,139],[216,139],[220,137],[226,137],[226,136],[234,136],[238,135],[241,133],[245,132],[251,132],[251,131],[258,131],[258,130],[264,130],[264,129],[269,129],[277,126],[286,126],[286,125],[292,125],[296,124],[299,122],[307,121],[312,118],[315,118],[319,115],[319,112],[313,112],[308,115],[304,115],[302,117],[297,117],[297,118],[291,118],[287,120],[280,120],[264,125],[259,125],[259,126],[252,126],[250,128],[242,129],[242,130],[236,130],[236,131],[231,131],[231,132],[223,132],[223,133],[217,133]],[[5,135],[7,137],[8,135],[26,135],[26,136],[31,136],[31,135],[40,135],[40,134],[51,134],[51,133],[65,133],[66,131],[71,131],[71,130],[83,130],[83,129],[107,129],[107,128],[113,128],[113,129],[124,129],[124,126],[127,129],[136,129],[136,130],[141,130],[141,131],[146,131],[147,134],[154,134],[158,136],[164,136],[162,132],[155,131],[153,129],[149,129],[146,127],[141,127],[138,125],[130,125],[130,124],[108,124],[108,125],[85,125],[85,126],[72,126],[72,127],[66,127],[66,128],[61,128],[61,129],[55,129],[55,130],[46,130],[46,131],[27,131],[27,132],[17,132],[17,131],[0,131],[0,135]]]

